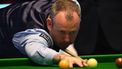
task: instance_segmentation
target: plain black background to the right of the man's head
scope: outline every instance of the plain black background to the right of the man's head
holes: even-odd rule
[[[82,8],[80,55],[122,53],[122,0],[78,0]]]

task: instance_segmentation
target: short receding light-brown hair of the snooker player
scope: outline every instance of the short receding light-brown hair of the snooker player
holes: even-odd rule
[[[51,17],[55,17],[60,11],[66,11],[67,19],[72,19],[72,12],[76,12],[81,17],[81,8],[77,2],[73,0],[56,0],[51,7]]]

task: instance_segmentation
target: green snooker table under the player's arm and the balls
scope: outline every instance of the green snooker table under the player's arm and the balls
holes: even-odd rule
[[[115,59],[122,54],[83,55],[84,59],[95,58],[98,66],[95,69],[121,69],[116,66]],[[60,69],[58,64],[52,66],[35,65],[28,58],[4,58],[0,59],[0,69]],[[88,67],[73,67],[72,69],[90,69]]]

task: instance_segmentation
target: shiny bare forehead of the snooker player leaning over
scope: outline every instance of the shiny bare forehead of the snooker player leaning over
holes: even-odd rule
[[[58,24],[59,26],[76,26],[80,23],[80,17],[77,15],[76,12],[73,12],[71,15],[68,15],[69,13],[62,11],[59,12],[54,19],[54,22]]]

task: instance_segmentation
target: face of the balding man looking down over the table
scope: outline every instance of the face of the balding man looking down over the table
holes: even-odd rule
[[[55,44],[62,49],[74,42],[79,30],[80,17],[76,12],[73,12],[72,16],[69,21],[66,19],[66,12],[61,11],[54,17],[54,21],[51,20],[51,24],[47,25]]]

